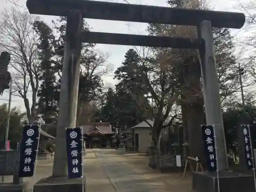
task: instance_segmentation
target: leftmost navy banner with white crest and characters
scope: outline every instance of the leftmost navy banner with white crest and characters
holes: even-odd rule
[[[24,125],[20,143],[19,177],[31,177],[34,174],[38,137],[38,125]]]

